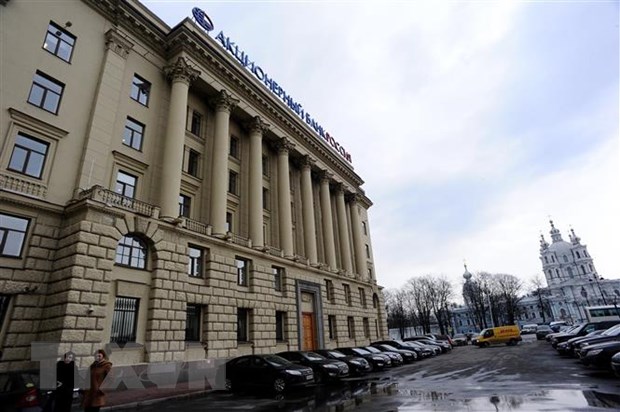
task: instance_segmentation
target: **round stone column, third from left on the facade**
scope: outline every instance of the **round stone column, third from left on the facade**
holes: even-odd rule
[[[250,239],[252,246],[265,246],[263,238],[263,133],[269,125],[256,116],[250,130]]]

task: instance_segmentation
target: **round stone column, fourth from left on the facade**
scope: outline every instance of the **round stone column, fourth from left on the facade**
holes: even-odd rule
[[[293,217],[291,213],[291,183],[289,179],[289,151],[294,145],[285,137],[278,143],[278,217],[280,226],[280,247],[284,256],[292,257]]]

